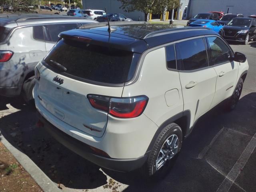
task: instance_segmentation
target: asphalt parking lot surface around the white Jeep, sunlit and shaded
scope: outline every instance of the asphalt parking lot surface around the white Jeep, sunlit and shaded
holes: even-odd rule
[[[36,128],[36,110],[19,98],[1,98],[1,133],[65,192],[255,192],[256,42],[231,46],[246,54],[250,67],[236,109],[219,105],[202,116],[159,182],[141,181],[137,171],[101,169],[74,154]]]

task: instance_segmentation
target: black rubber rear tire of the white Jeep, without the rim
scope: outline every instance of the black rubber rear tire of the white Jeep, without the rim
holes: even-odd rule
[[[157,170],[156,160],[160,154],[160,150],[164,146],[166,140],[172,135],[176,135],[178,138],[178,142],[177,142],[178,147],[176,150],[176,154],[174,154],[174,157],[172,157],[170,160],[167,160],[164,166],[160,167]],[[166,176],[166,174],[168,174],[174,162],[176,161],[176,158],[178,157],[178,153],[180,152],[181,145],[182,145],[182,130],[180,126],[178,126],[176,123],[171,123],[166,127],[164,127],[160,132],[160,134],[158,135],[154,143],[154,146],[150,154],[148,155],[148,160],[142,167],[143,176],[145,178],[150,178],[154,180],[158,180]]]

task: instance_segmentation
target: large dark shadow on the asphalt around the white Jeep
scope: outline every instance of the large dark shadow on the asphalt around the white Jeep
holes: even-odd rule
[[[129,185],[126,192],[216,191],[224,176],[204,158],[199,159],[198,154],[222,128],[250,136],[255,134],[256,93],[240,98],[232,112],[225,112],[222,105],[198,120],[191,135],[184,140],[176,164],[166,178],[158,182],[142,182],[138,171],[120,173],[103,169],[104,172],[116,181]],[[98,166],[56,142],[43,129],[36,128],[36,109],[24,107],[2,117],[0,124],[4,137],[28,155],[52,181],[76,189],[91,189],[107,184],[107,178]],[[223,146],[219,150],[227,149]],[[252,184],[251,191],[255,185]]]

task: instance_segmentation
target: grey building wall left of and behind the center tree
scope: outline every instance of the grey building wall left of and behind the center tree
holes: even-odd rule
[[[140,17],[141,21],[144,21],[144,13],[139,11],[134,12],[124,12],[120,6],[121,2],[117,0],[82,0],[83,1],[83,9],[107,9],[108,13],[122,13],[128,18],[132,18],[135,21],[138,21]]]

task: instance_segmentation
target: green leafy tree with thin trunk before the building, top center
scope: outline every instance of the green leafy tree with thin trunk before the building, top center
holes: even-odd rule
[[[164,12],[164,10],[177,8],[180,6],[180,0],[118,0],[122,3],[122,8],[126,12],[133,12],[135,10],[144,12],[145,21],[147,20],[147,14],[158,14]]]

